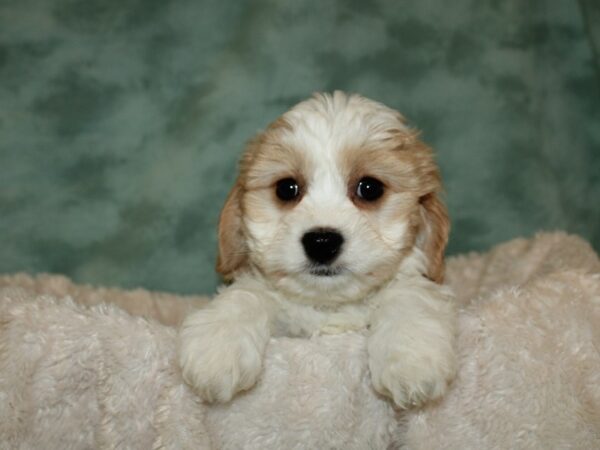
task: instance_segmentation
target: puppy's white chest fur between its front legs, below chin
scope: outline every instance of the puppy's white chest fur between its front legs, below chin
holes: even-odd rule
[[[275,333],[283,336],[306,337],[359,331],[368,325],[369,307],[365,303],[353,303],[325,309],[280,300],[275,322]]]

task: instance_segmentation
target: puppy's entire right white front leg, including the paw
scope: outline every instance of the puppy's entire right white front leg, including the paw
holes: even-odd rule
[[[441,397],[456,372],[456,313],[449,288],[398,279],[373,299],[368,340],[375,390],[401,408]]]

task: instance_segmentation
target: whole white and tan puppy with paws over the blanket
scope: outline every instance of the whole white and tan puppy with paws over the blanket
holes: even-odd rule
[[[456,361],[440,190],[431,150],[380,103],[316,94],[269,125],[220,217],[231,284],[180,330],[186,382],[227,402],[256,383],[270,336],[367,330],[375,390],[400,408],[442,396]]]

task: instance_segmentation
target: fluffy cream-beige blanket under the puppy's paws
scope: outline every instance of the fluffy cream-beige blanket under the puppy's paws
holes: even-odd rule
[[[0,278],[6,448],[600,448],[600,262],[562,233],[450,258],[460,371],[394,411],[361,334],[272,339],[255,389],[207,406],[182,383],[181,317],[206,299]]]

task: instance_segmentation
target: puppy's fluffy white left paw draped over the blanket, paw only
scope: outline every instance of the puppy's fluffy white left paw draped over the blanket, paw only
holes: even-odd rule
[[[207,402],[228,402],[254,386],[268,335],[257,327],[211,321],[210,311],[188,317],[180,331],[179,364],[184,380]]]

